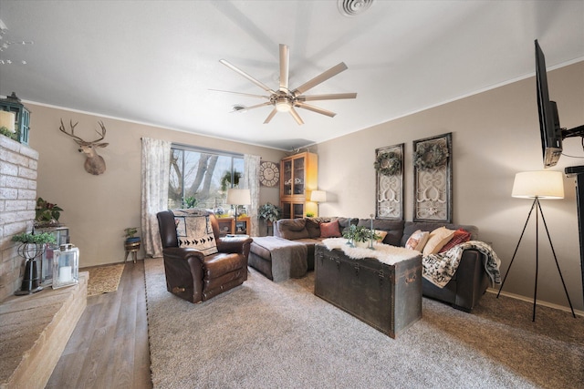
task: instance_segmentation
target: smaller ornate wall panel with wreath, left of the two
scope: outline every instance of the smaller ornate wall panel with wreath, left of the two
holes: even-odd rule
[[[403,143],[375,150],[375,216],[403,219]]]

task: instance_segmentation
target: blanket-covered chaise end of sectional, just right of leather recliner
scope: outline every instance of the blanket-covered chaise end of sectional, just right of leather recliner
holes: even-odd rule
[[[305,244],[276,236],[255,237],[247,264],[273,282],[304,277],[308,271]]]

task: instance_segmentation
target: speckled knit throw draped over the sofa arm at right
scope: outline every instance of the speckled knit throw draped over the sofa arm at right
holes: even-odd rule
[[[449,251],[431,254],[422,258],[422,275],[434,285],[443,288],[453,278],[458,264],[463,256],[463,251],[474,249],[486,256],[484,263],[485,271],[491,279],[491,286],[495,283],[501,283],[501,273],[499,266],[501,260],[497,257],[495,251],[483,241],[467,241],[457,244]]]

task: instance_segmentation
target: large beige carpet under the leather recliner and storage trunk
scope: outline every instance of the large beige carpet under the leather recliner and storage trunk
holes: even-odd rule
[[[424,298],[393,340],[313,293],[314,272],[271,282],[250,269],[192,304],[144,261],[154,388],[584,388],[584,318],[487,293],[468,314]]]

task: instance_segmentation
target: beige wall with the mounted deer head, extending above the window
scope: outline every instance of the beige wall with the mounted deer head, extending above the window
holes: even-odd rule
[[[123,230],[141,225],[142,137],[254,154],[270,161],[285,156],[271,148],[25,104],[32,111],[30,145],[39,154],[36,195],[64,210],[59,221],[70,228],[71,243],[79,248],[80,267],[123,261]],[[98,152],[106,160],[105,173],[93,176],[85,171],[85,157],[78,152],[78,145],[58,130],[61,118],[67,128],[69,120],[78,122],[75,133],[86,140],[96,138],[94,129],[99,128],[99,120],[104,122],[104,141],[110,145]],[[260,204],[277,203],[278,199],[278,189],[261,189]],[[139,252],[139,258],[143,255]]]

